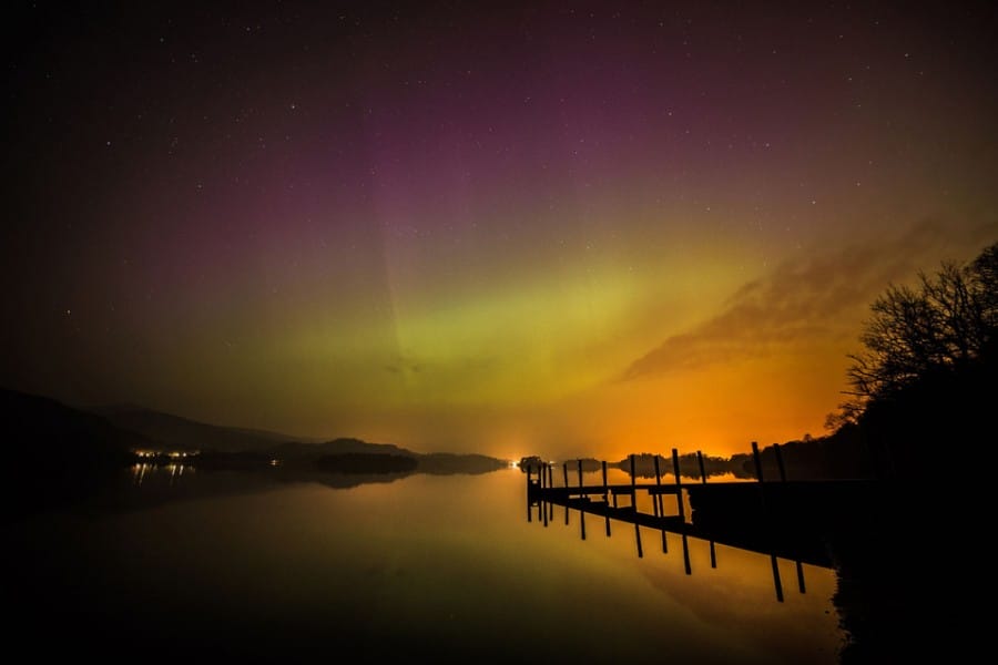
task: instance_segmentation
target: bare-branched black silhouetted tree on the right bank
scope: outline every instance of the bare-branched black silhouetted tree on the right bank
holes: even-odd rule
[[[852,397],[826,424],[863,442],[875,475],[920,479],[944,448],[972,446],[995,424],[998,243],[890,286],[872,310],[865,349],[849,356]]]

